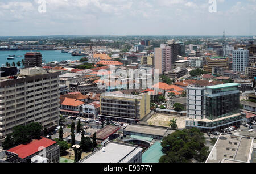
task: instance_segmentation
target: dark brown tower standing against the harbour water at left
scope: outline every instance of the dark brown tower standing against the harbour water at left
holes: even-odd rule
[[[40,52],[27,52],[25,54],[25,68],[42,67],[42,54]]]

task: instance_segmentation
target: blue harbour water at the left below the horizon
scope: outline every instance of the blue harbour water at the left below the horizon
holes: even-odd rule
[[[23,50],[18,50],[18,51],[0,51],[0,66],[5,65],[6,62],[8,63],[17,63],[18,61],[22,61],[24,59],[24,55],[29,52],[29,51],[23,51]],[[80,60],[83,56],[72,56],[69,53],[61,53],[61,50],[43,50],[43,51],[38,51],[42,54],[42,60],[43,63],[44,61],[46,63],[48,62],[53,62],[53,61],[64,61],[64,60]],[[23,56],[23,57],[14,57],[15,60],[7,60],[9,55],[15,55],[15,56]],[[22,67],[22,65],[21,65]]]

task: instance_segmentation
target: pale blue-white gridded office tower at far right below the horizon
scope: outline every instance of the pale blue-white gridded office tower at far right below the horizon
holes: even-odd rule
[[[238,48],[233,50],[233,71],[245,73],[245,68],[249,65],[249,50]]]

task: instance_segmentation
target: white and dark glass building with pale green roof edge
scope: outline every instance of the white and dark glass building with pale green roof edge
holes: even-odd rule
[[[205,130],[240,125],[246,121],[240,113],[240,84],[187,87],[187,127]]]

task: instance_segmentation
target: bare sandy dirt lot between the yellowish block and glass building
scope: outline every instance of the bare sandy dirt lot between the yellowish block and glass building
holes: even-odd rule
[[[178,128],[185,128],[186,118],[177,115],[156,113],[147,121],[147,123],[149,125],[169,127],[171,124],[170,120],[172,119],[177,119],[176,124]]]

